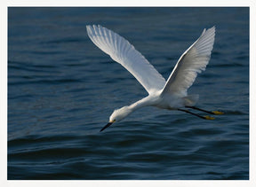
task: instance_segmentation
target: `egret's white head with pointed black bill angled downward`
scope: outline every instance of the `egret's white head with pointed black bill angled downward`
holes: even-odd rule
[[[130,113],[132,113],[132,110],[129,108],[129,106],[124,106],[122,108],[116,109],[109,117],[108,124],[102,128],[100,131],[108,128],[110,125],[112,125],[114,122],[122,121],[125,117],[127,117]]]

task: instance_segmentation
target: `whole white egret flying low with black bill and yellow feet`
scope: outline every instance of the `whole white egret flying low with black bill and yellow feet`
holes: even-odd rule
[[[168,110],[179,110],[200,117],[204,120],[214,120],[211,116],[202,116],[183,109],[196,109],[205,113],[222,114],[219,111],[206,111],[197,108],[198,95],[188,95],[187,90],[196,79],[196,75],[205,70],[211,58],[214,43],[215,27],[205,29],[200,37],[185,51],[172,70],[167,82],[148,60],[135,50],[124,37],[117,35],[106,27],[86,26],[92,42],[100,50],[106,52],[117,63],[124,66],[140,84],[148,91],[144,97],[132,105],[116,109],[109,117],[108,124],[121,121],[133,111],[144,106],[156,106]]]

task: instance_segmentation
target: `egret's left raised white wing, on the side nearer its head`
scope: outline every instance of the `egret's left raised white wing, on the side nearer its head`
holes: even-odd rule
[[[149,94],[164,88],[164,77],[124,37],[106,27],[93,25],[86,28],[92,42],[124,66]]]

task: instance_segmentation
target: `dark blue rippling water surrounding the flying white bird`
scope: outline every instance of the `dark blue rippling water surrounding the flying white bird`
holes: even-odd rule
[[[216,26],[210,64],[188,92],[225,114],[148,107],[100,133],[114,109],[147,93],[87,24],[123,35],[165,79]],[[9,8],[8,179],[248,180],[249,9]]]

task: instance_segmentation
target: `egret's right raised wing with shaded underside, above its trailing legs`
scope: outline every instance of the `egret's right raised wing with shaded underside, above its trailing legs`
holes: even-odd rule
[[[202,35],[181,55],[162,94],[187,96],[187,90],[195,81],[196,75],[205,70],[211,58],[214,37],[215,27],[207,30],[204,28]]]

